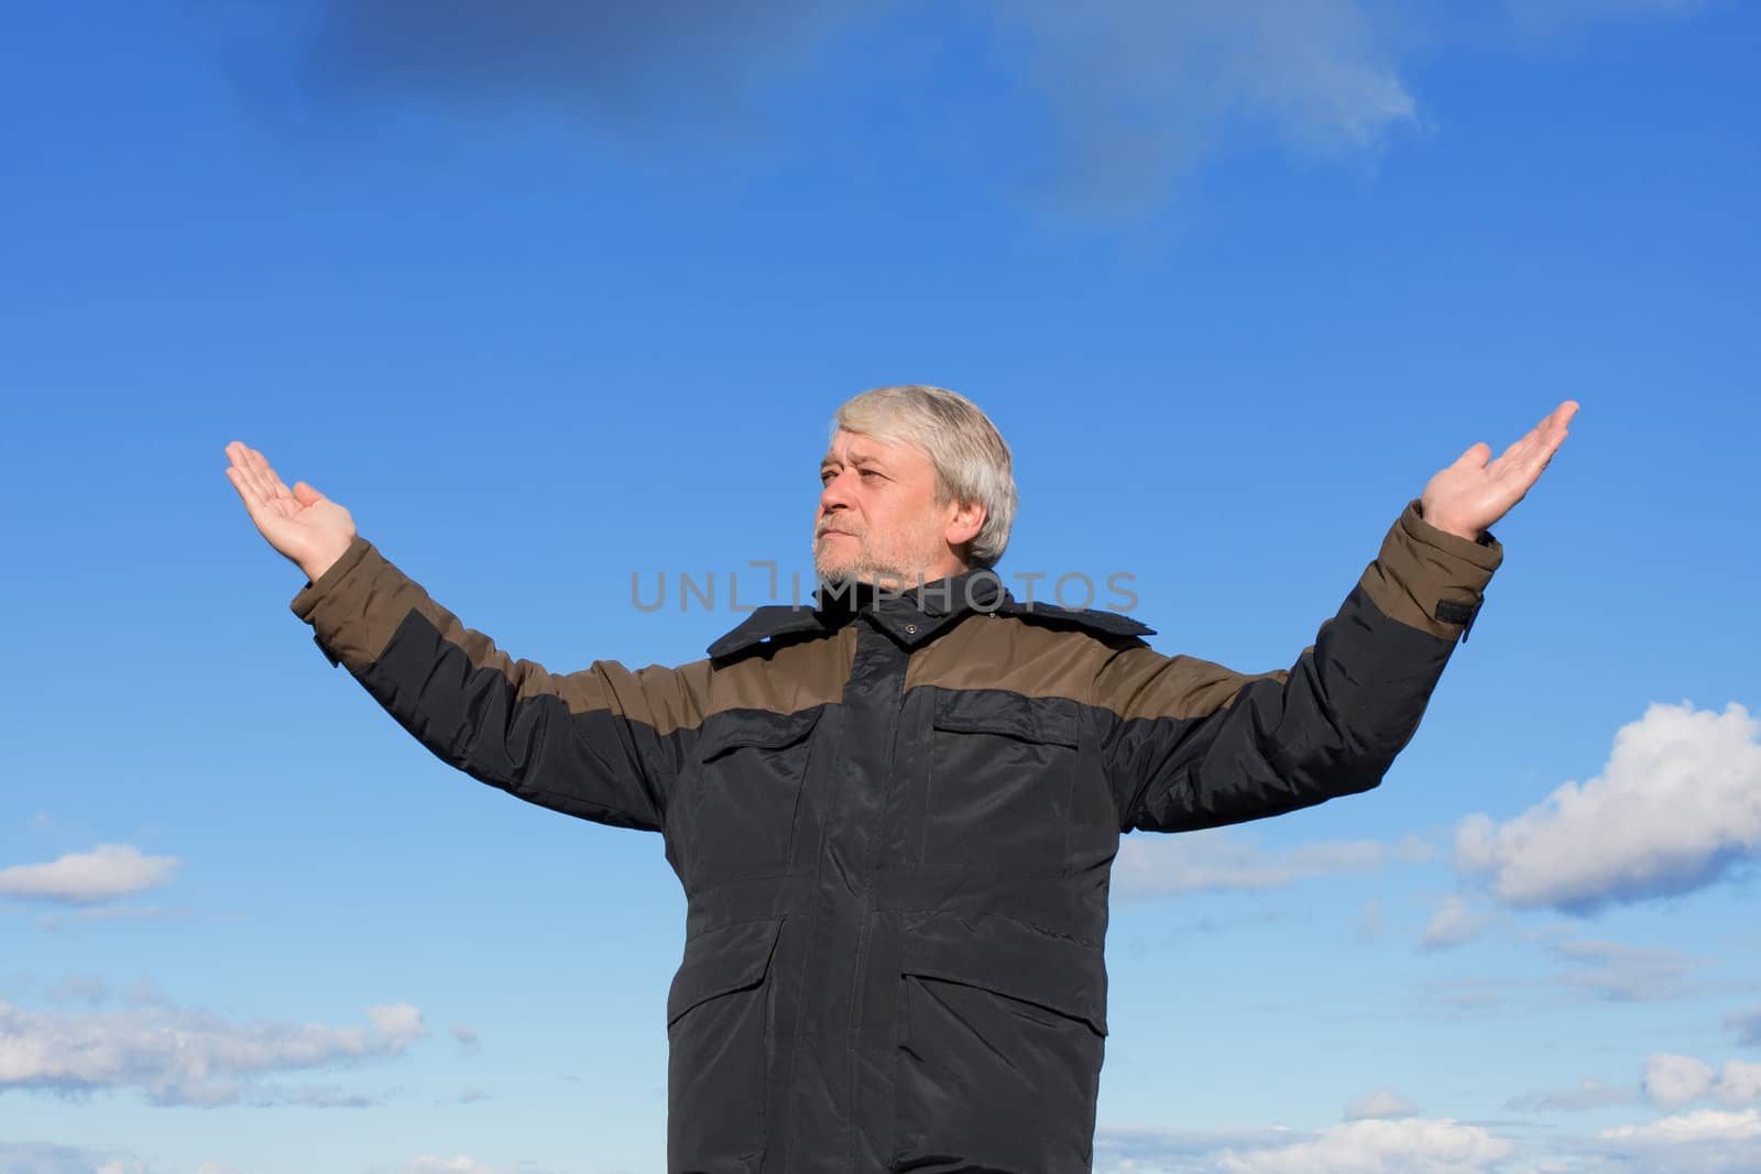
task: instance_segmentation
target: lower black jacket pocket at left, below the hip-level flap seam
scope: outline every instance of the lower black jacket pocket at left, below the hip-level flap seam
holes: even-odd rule
[[[750,1174],[764,1156],[780,919],[685,942],[667,989],[667,1169]]]

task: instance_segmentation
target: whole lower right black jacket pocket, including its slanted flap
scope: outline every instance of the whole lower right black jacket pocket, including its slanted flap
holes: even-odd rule
[[[893,1169],[1090,1170],[1099,945],[937,914],[905,928],[898,994]]]

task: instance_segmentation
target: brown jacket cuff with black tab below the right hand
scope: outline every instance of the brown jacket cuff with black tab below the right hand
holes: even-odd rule
[[[1363,570],[1359,586],[1389,620],[1446,641],[1467,639],[1485,602],[1486,583],[1504,561],[1492,532],[1479,540],[1425,521],[1419,498],[1407,502]]]

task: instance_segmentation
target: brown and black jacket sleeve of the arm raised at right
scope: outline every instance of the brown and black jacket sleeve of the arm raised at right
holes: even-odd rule
[[[1495,537],[1439,530],[1414,498],[1293,667],[1115,648],[1095,695],[1122,831],[1238,824],[1381,783],[1502,560]]]

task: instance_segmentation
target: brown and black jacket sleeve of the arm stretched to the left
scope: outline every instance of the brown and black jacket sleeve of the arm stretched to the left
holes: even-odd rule
[[[514,660],[361,535],[289,605],[329,662],[444,762],[579,818],[662,829],[673,734],[696,725],[701,664],[593,662],[558,676]]]

